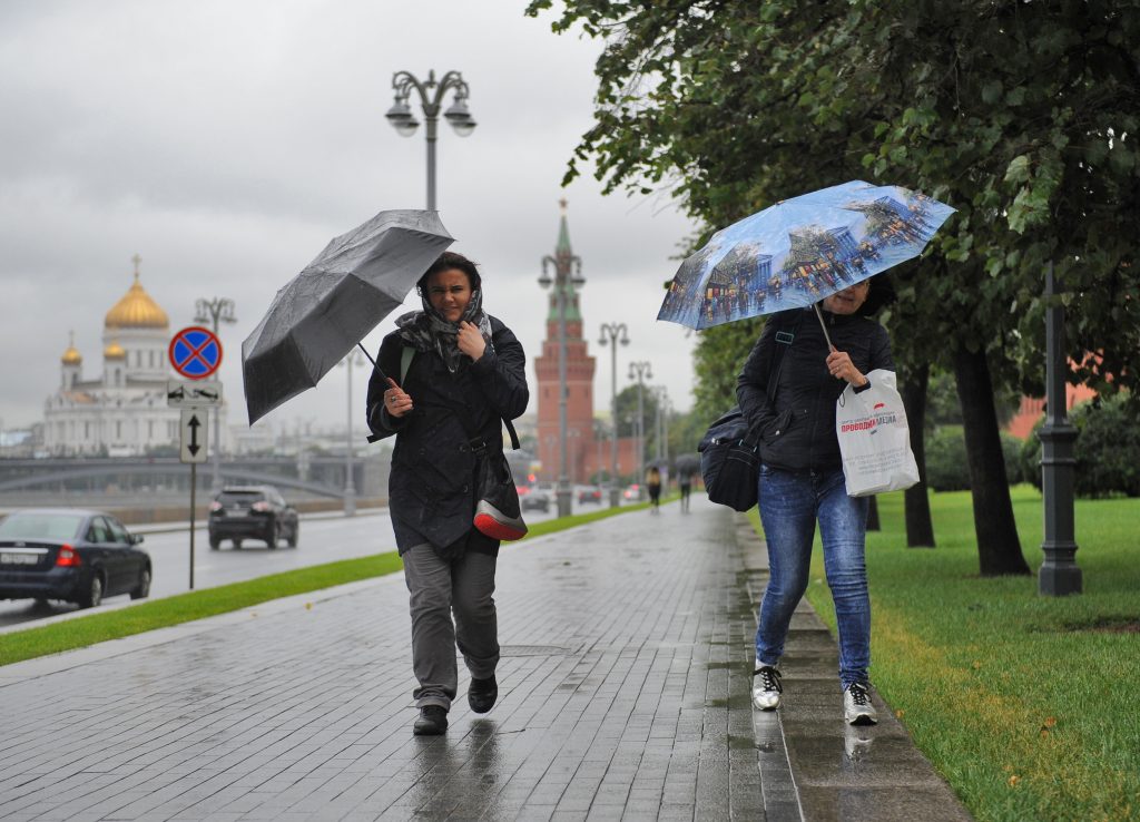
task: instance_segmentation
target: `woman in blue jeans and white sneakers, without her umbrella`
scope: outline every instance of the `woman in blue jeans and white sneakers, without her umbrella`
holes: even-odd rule
[[[774,315],[736,382],[740,407],[752,429],[760,432],[763,462],[760,521],[771,576],[760,602],[752,684],[752,702],[762,710],[780,707],[783,687],[779,662],[792,611],[807,591],[819,521],[823,564],[839,628],[844,718],[852,725],[877,722],[868,673],[868,500],[847,496],[836,437],[836,400],[847,383],[856,390],[870,385],[868,372],[894,371],[887,332],[866,316],[891,294],[881,280],[863,280],[823,300],[823,317],[834,345],[830,351],[813,309]],[[797,312],[799,320],[795,319]],[[772,374],[773,351],[785,343],[781,364]],[[772,380],[776,385],[769,401]]]

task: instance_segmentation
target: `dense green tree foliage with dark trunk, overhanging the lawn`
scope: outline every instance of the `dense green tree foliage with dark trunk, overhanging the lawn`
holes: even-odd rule
[[[1140,0],[564,0],[553,26],[605,40],[567,179],[589,157],[606,190],[668,190],[709,230],[861,177],[959,210],[882,319],[901,367],[969,386],[976,521],[1012,523],[992,393],[1041,392],[1045,266],[1075,377],[1135,381]],[[731,397],[751,340],[702,335],[699,406]],[[1024,572],[1016,530],[979,551],[984,573]]]

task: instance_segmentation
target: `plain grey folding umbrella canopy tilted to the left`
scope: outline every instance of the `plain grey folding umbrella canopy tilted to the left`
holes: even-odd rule
[[[454,242],[434,211],[382,211],[335,237],[242,343],[250,424],[317,384]]]

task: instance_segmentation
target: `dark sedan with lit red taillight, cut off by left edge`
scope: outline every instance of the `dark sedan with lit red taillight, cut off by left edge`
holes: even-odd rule
[[[150,593],[150,556],[109,514],[76,508],[15,511],[0,522],[0,599],[65,600]]]

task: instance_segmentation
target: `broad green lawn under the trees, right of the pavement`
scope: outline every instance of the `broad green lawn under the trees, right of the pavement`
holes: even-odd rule
[[[1041,495],[1013,489],[1036,572]],[[983,579],[968,493],[931,496],[937,547],[906,548],[903,495],[868,535],[872,679],[979,820],[1140,819],[1140,499],[1078,500],[1084,592]],[[808,600],[834,630],[815,551]]]

